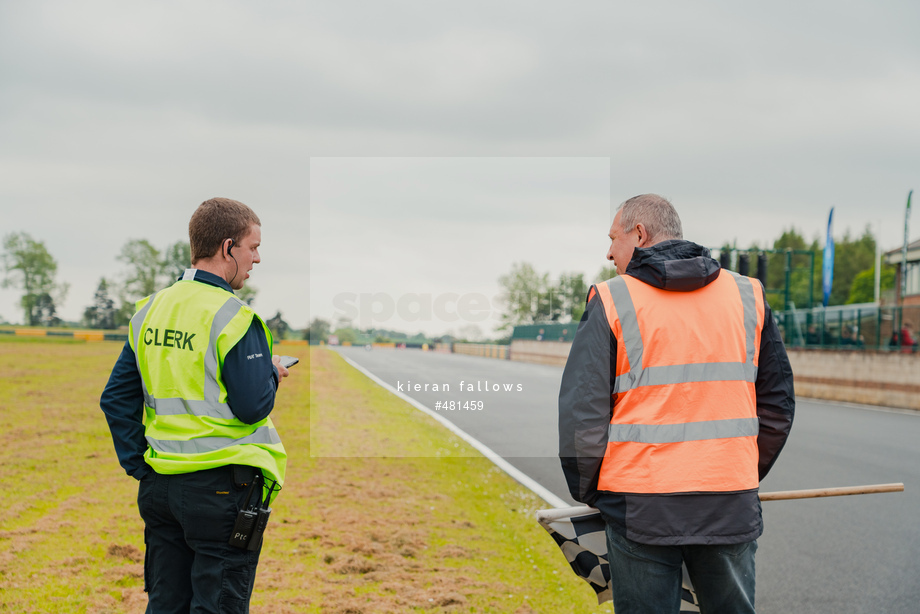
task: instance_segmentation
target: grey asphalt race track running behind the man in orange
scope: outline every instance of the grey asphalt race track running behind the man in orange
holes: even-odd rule
[[[482,401],[482,410],[438,413],[572,501],[556,458],[561,368],[419,350],[338,351],[432,410],[438,401]],[[435,384],[450,392],[433,392]],[[757,611],[920,612],[920,414],[799,399],[763,492],[890,482],[903,482],[905,492],[764,503]]]

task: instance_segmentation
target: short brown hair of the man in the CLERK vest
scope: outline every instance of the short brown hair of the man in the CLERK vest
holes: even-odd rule
[[[192,264],[210,258],[227,239],[237,244],[253,224],[261,226],[259,216],[237,200],[212,198],[195,209],[188,223],[188,240],[192,248]]]

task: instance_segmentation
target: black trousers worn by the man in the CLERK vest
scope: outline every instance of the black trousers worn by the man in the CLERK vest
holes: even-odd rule
[[[227,542],[256,472],[226,466],[141,480],[148,614],[249,612],[259,551]]]

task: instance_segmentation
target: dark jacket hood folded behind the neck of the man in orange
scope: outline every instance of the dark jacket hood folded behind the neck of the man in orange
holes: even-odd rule
[[[670,240],[633,250],[625,274],[662,290],[690,292],[715,281],[721,268],[702,245]]]

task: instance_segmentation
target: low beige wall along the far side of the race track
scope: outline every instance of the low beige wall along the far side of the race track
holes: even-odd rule
[[[571,343],[514,339],[511,360],[565,365]],[[920,354],[789,349],[800,397],[920,411]]]

